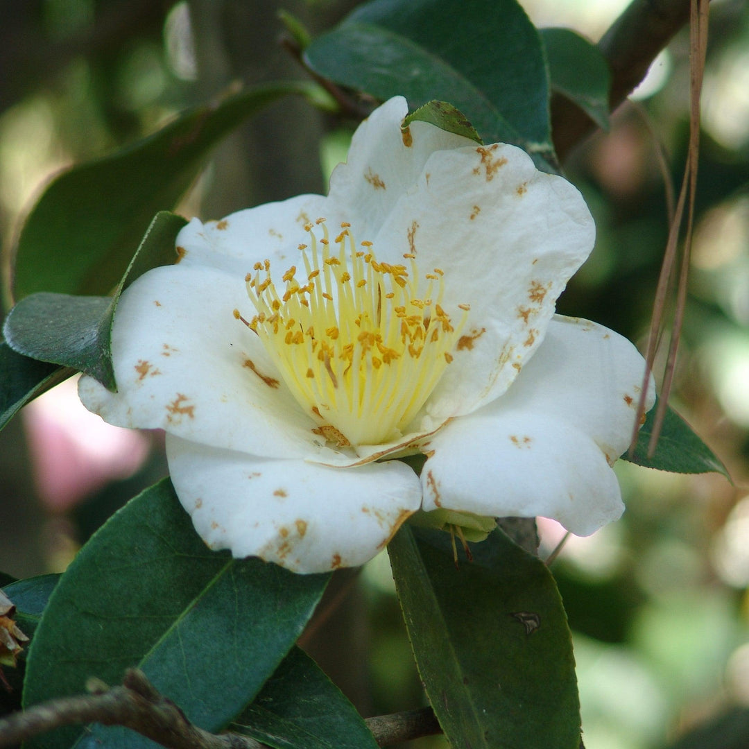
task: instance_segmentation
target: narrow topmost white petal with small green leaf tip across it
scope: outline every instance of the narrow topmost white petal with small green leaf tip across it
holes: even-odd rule
[[[393,97],[375,109],[354,133],[348,160],[330,178],[329,204],[351,222],[357,240],[372,241],[395,203],[422,174],[434,151],[461,148],[473,141],[447,133],[426,122],[401,123],[408,113],[403,97]],[[330,217],[329,217],[330,218]]]

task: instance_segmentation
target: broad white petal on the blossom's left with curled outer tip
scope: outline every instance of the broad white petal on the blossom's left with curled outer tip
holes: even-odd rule
[[[82,377],[81,400],[117,426],[163,428],[255,455],[320,452],[311,414],[291,397],[257,336],[232,314],[249,306],[246,300],[243,277],[210,267],[145,273],[115,315],[118,392]]]

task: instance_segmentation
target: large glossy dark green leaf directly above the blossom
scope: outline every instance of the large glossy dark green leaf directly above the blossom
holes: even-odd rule
[[[306,49],[317,73],[411,109],[449,101],[484,142],[553,160],[538,31],[515,0],[374,0]]]

